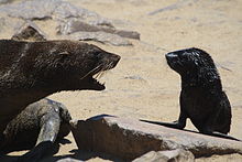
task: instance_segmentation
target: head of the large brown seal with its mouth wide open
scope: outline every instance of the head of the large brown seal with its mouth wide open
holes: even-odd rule
[[[120,60],[119,55],[79,41],[34,42],[25,48],[29,56],[23,72],[38,84],[62,90],[103,90],[105,85],[94,76],[116,67]]]

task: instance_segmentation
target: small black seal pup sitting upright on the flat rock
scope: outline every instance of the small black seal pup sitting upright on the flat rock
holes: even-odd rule
[[[211,56],[193,47],[167,53],[166,60],[182,77],[179,118],[173,123],[142,121],[184,129],[186,119],[190,118],[201,133],[238,140],[227,134],[231,125],[231,106]]]

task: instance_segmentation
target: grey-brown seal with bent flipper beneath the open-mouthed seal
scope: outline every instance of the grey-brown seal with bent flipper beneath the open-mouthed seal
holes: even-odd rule
[[[72,122],[70,120],[72,117],[67,108],[61,102],[47,98],[33,102],[7,125],[3,132],[4,141],[1,143],[1,151],[2,153],[8,153],[19,150],[30,150],[48,139],[53,139],[53,142],[56,141],[57,145],[57,142],[69,133],[72,127],[69,125]],[[50,143],[46,147],[52,148],[52,145]],[[45,151],[34,151],[31,156],[34,160],[38,160],[44,153]],[[54,152],[51,151],[51,153]],[[21,159],[32,161],[29,158],[24,155]]]

